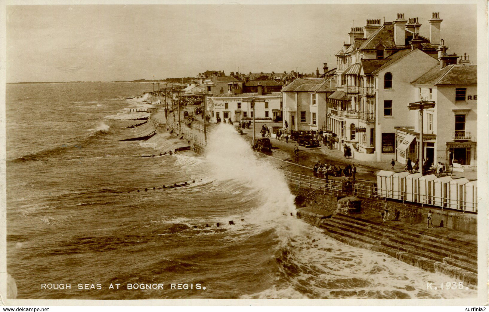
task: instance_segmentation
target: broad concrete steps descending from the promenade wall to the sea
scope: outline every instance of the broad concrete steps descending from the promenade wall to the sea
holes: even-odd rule
[[[368,250],[384,252],[410,265],[441,272],[477,285],[477,245],[440,234],[396,229],[382,222],[335,213],[320,228],[336,240]]]

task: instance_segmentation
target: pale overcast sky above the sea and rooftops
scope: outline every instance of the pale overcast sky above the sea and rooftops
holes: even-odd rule
[[[476,6],[25,5],[6,8],[7,82],[131,81],[205,70],[322,72],[350,28],[440,12],[447,52],[476,61]]]

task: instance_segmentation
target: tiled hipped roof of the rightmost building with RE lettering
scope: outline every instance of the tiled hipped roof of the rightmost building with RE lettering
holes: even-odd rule
[[[456,64],[447,65],[440,69],[437,65],[420,78],[411,83],[418,84],[476,84],[477,83],[477,65],[475,64]]]

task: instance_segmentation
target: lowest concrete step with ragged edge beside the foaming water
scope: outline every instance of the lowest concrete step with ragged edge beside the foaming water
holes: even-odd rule
[[[382,244],[382,241],[366,237],[363,234],[338,229],[333,224],[324,223],[321,224],[320,227],[326,229],[324,232],[325,234],[345,244],[357,248],[383,252],[409,265],[430,272],[442,272],[450,277],[463,280],[464,283],[470,284],[472,287],[477,286],[477,273],[473,271],[455,267],[449,263],[436,261],[417,254],[412,254],[409,251],[403,251],[395,247],[393,248],[392,246],[396,246],[395,244],[392,246],[384,245]]]

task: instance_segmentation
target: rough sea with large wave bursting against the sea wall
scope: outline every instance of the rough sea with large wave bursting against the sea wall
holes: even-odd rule
[[[283,173],[230,125],[216,127],[201,156],[160,156],[172,148],[161,140],[119,141],[144,135],[129,126],[148,116],[134,109],[151,90],[7,84],[7,272],[17,299],[477,295],[429,290],[459,281],[296,219]],[[188,185],[163,188],[180,182]]]

